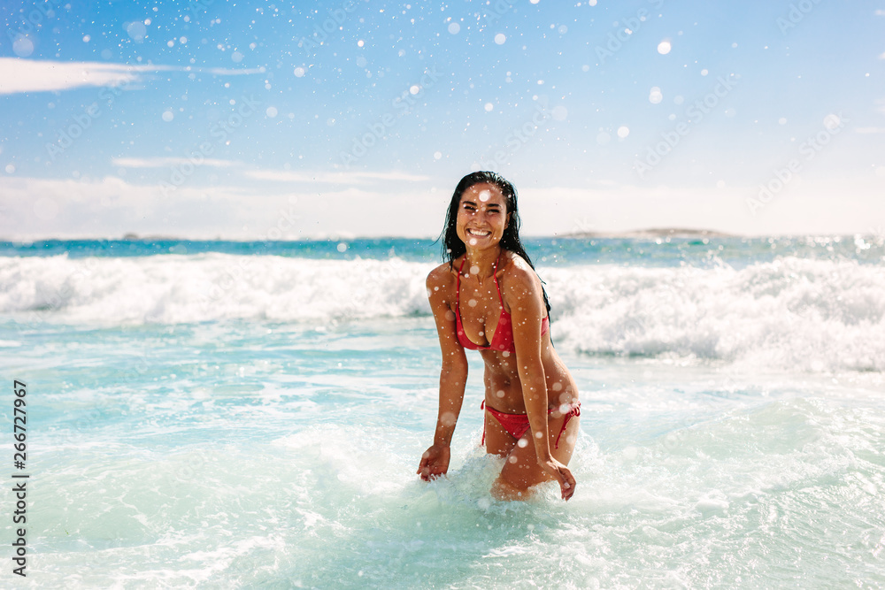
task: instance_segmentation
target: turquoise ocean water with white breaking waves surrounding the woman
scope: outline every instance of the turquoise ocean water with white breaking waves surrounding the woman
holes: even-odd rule
[[[490,496],[476,353],[448,478],[415,474],[434,241],[0,242],[0,586],[885,586],[882,236],[527,250],[580,389],[570,502]]]

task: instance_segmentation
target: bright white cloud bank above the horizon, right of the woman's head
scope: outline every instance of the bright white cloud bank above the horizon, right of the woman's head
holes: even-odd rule
[[[605,183],[608,184],[608,183]],[[519,190],[519,216],[526,235],[602,234],[654,227],[709,229],[727,234],[853,234],[869,219],[885,218],[885,178],[793,180],[751,214],[747,199],[758,186],[725,188],[527,187]],[[834,195],[840,195],[835,199]],[[839,203],[835,206],[835,203]]]

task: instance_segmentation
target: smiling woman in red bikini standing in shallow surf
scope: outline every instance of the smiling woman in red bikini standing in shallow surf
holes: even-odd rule
[[[492,487],[503,500],[558,481],[574,494],[566,464],[577,440],[580,402],[572,375],[550,343],[550,303],[519,241],[516,189],[495,172],[467,174],[455,188],[444,230],[448,263],[427,275],[427,295],[443,351],[434,444],[418,473],[449,469],[450,441],[467,380],[464,349],[485,363],[483,442],[506,457]]]

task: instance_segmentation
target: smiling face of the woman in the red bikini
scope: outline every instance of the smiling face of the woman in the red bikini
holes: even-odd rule
[[[507,199],[496,185],[474,184],[458,203],[458,237],[469,249],[495,246],[510,221]]]

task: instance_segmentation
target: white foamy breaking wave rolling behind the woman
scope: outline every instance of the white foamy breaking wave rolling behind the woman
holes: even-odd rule
[[[112,326],[429,316],[425,278],[433,266],[220,253],[0,257],[0,313],[23,325]],[[878,264],[786,256],[741,268],[542,265],[539,274],[558,348],[810,372],[885,370]]]

